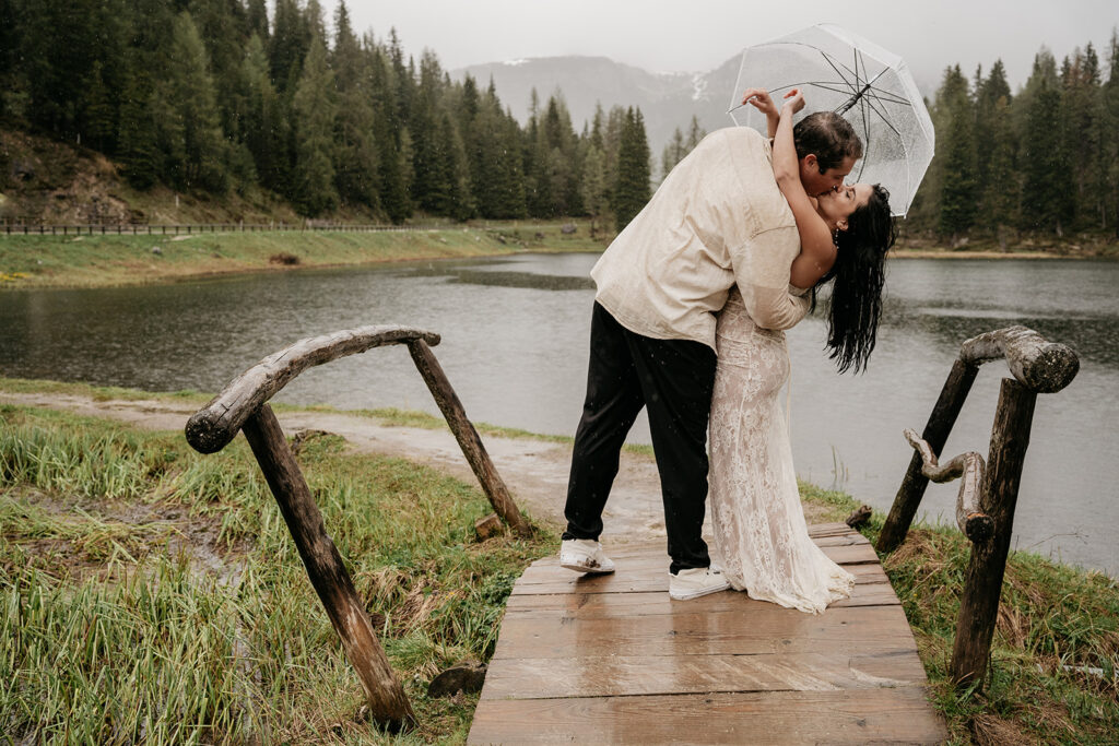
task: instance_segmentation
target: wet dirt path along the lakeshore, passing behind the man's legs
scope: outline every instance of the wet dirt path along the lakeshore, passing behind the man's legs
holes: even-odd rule
[[[0,404],[64,409],[117,419],[148,429],[180,433],[195,412],[189,404],[154,399],[94,400],[67,394],[0,391]],[[345,437],[355,451],[401,456],[474,483],[473,472],[449,431],[386,426],[377,419],[345,413],[283,412],[276,413],[276,416],[289,435],[301,429],[323,429]],[[530,438],[486,436],[482,440],[517,504],[535,520],[561,527],[571,446]],[[814,522],[811,506],[805,509],[806,518]],[[603,522],[603,541],[610,545],[664,539],[660,479],[651,457],[622,453],[621,469]],[[709,536],[709,527],[706,533]]]

